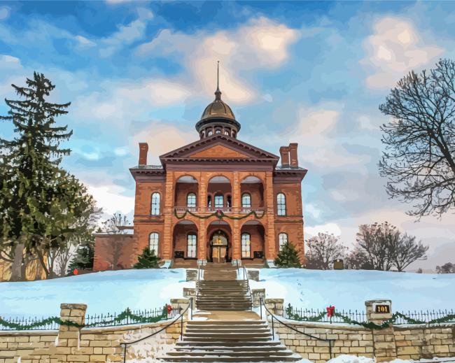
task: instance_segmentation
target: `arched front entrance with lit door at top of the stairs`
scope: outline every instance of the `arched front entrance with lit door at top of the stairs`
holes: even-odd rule
[[[207,261],[223,264],[232,259],[232,231],[227,222],[212,222],[207,228]]]

